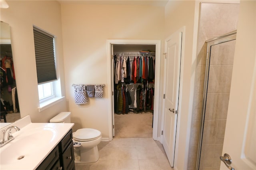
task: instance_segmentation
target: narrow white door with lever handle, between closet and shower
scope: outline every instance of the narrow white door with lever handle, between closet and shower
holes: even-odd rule
[[[166,42],[166,59],[164,73],[164,107],[162,143],[170,162],[174,166],[174,150],[178,115],[178,97],[180,85],[182,32],[177,32]]]

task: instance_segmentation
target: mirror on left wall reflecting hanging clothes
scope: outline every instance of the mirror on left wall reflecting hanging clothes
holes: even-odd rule
[[[1,57],[1,124],[12,123],[20,119],[16,78],[12,60],[12,47],[10,27],[5,22],[0,22],[0,57]],[[1,127],[2,127],[1,125]]]

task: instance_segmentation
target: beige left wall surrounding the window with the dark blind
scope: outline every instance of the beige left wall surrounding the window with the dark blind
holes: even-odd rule
[[[16,75],[21,117],[30,115],[33,123],[49,122],[57,113],[66,111],[66,101],[38,111],[38,89],[34,51],[33,25],[56,36],[58,77],[65,96],[60,4],[56,1],[8,1],[1,8],[1,21],[10,25],[12,55]]]

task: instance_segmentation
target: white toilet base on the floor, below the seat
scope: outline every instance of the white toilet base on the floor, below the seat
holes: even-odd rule
[[[98,146],[89,149],[79,150],[74,148],[75,164],[86,164],[97,162],[99,159]]]

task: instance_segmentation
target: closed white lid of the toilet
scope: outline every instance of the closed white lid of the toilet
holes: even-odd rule
[[[94,139],[99,136],[101,136],[101,132],[93,128],[80,128],[73,134],[73,137],[78,141]]]

